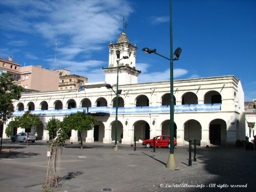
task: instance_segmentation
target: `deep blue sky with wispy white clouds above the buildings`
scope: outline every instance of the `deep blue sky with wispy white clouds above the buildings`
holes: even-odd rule
[[[0,57],[21,66],[43,65],[104,81],[108,46],[126,35],[139,48],[138,81],[170,80],[170,62],[148,55],[143,47],[170,58],[169,0],[1,0]],[[256,99],[256,1],[172,0],[174,79],[235,75],[245,101]]]

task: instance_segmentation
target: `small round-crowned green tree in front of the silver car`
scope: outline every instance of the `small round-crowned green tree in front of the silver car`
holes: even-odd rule
[[[30,111],[26,111],[22,116],[15,117],[15,121],[17,121],[20,128],[25,129],[25,132],[30,132],[31,127],[36,127],[41,123],[40,118]]]

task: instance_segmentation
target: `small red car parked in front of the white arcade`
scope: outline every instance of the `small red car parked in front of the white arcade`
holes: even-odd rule
[[[145,145],[147,148],[153,147],[154,146],[154,140],[153,139],[148,139],[144,140],[142,142],[142,145]],[[177,140],[174,138],[174,147],[177,145]],[[156,147],[171,147],[170,144],[170,135],[160,135],[155,137],[155,146]]]

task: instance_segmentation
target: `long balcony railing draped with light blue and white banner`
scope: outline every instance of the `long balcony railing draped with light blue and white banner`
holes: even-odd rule
[[[116,108],[111,107],[89,107],[71,108],[71,109],[54,109],[54,110],[35,110],[31,111],[35,115],[68,115],[77,111],[85,110],[86,113],[108,113],[115,114]],[[221,103],[214,104],[192,104],[192,105],[174,105],[174,112],[193,112],[193,111],[220,111]],[[22,116],[25,111],[15,111],[13,116]],[[170,106],[145,106],[145,107],[119,107],[118,114],[137,114],[137,113],[170,113]]]

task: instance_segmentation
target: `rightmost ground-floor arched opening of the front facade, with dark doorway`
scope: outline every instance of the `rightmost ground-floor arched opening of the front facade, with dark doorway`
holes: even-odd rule
[[[223,119],[214,119],[210,122],[209,139],[212,145],[226,144],[227,124]]]

